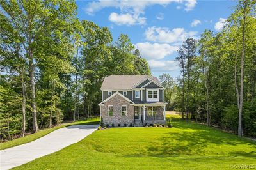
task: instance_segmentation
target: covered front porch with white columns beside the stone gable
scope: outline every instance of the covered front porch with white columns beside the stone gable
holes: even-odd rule
[[[166,105],[134,105],[134,125],[137,127],[151,124],[164,124]]]

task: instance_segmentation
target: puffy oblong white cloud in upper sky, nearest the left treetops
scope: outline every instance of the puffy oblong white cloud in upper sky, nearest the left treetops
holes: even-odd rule
[[[131,15],[129,13],[126,14],[118,14],[115,12],[112,12],[108,19],[111,22],[114,22],[117,25],[143,25],[146,23],[146,18],[145,17],[138,17],[138,15]]]

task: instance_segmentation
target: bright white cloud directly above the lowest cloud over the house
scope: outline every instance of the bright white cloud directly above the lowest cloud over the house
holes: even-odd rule
[[[178,50],[178,47],[168,43],[136,43],[136,49],[140,50],[141,56],[146,59],[163,59]]]

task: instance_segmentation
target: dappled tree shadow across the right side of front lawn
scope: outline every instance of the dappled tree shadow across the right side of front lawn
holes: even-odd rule
[[[209,155],[227,155],[226,157],[229,157],[232,155],[234,157],[255,158],[256,143],[253,141],[240,139],[236,135],[206,127],[205,125],[198,125],[197,123],[187,125],[186,121],[182,121],[179,118],[175,118],[172,121],[173,127],[180,130],[175,132],[175,130],[171,129],[170,132],[164,134],[164,137],[152,141],[148,145],[147,150],[139,156],[175,157],[179,155],[205,155],[209,157]],[[254,151],[239,151],[239,146],[243,144],[252,147],[252,150],[254,148]],[[225,146],[235,147],[228,151],[225,150]],[[237,151],[236,147],[238,148]],[[133,156],[138,157],[138,155],[125,155],[125,157]]]

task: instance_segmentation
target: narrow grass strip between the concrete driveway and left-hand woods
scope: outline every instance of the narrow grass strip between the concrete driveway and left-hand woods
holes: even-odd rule
[[[44,135],[47,135],[47,134],[53,132],[54,130],[57,130],[58,128],[68,127],[70,125],[83,125],[83,124],[93,124],[93,123],[94,124],[99,123],[99,118],[89,118],[86,120],[79,120],[79,121],[75,121],[72,123],[63,123],[58,127],[40,130],[36,134],[31,134],[31,135],[27,135],[25,137],[20,137],[18,139],[14,139],[14,140],[8,141],[6,143],[0,143],[0,150],[4,150],[6,148],[12,148],[13,146],[18,146],[18,145],[24,144],[24,143],[29,143],[31,141],[34,141],[34,140],[40,138],[40,137],[43,137]]]

